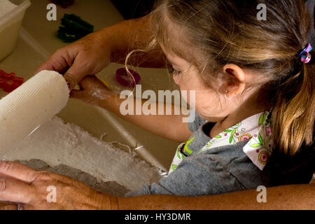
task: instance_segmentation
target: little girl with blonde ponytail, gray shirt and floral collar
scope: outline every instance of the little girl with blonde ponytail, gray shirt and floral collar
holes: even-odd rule
[[[258,20],[260,3],[266,20]],[[193,123],[182,123],[181,116],[122,116],[123,100],[92,76],[71,92],[183,142],[167,177],[127,196],[214,195],[309,183],[315,73],[304,1],[165,0],[151,18],[151,49],[165,53],[181,90],[195,90]]]

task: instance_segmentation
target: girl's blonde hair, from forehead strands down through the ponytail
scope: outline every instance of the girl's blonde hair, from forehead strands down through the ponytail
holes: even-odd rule
[[[259,3],[267,20],[257,18]],[[210,87],[228,63],[267,77],[260,90],[272,104],[277,150],[294,155],[313,143],[315,68],[296,57],[311,21],[303,0],[164,0],[152,18],[153,43],[194,64]]]

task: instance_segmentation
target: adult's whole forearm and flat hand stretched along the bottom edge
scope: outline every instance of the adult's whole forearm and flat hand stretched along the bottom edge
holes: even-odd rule
[[[57,202],[48,203],[48,186],[57,189]],[[257,202],[256,190],[223,195],[181,197],[144,195],[113,197],[66,176],[39,172],[15,162],[0,162],[1,209],[314,209],[315,184],[267,188],[267,202]]]

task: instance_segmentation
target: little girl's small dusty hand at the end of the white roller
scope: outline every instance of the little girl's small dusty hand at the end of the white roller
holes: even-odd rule
[[[80,90],[72,90],[70,97],[94,106],[101,106],[108,97],[115,94],[96,76],[85,76],[78,85]]]

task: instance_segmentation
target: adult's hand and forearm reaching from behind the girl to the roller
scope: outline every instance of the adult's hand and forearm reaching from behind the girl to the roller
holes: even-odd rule
[[[119,22],[56,50],[36,73],[58,71],[64,74],[72,90],[83,77],[99,73],[110,62],[125,63],[128,52],[145,49],[151,42],[152,30],[151,15]],[[161,49],[153,48],[131,57],[129,62],[137,66],[161,67],[165,66],[165,56]]]

